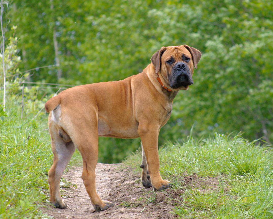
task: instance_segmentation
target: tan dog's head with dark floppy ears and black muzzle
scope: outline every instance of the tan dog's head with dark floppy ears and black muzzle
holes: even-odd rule
[[[201,58],[199,50],[188,45],[161,47],[151,61],[155,72],[161,74],[165,84],[172,90],[188,90],[193,84],[194,67]],[[164,83],[164,82],[163,82]]]

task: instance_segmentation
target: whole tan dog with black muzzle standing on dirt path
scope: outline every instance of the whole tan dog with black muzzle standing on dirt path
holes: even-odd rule
[[[50,202],[66,208],[60,194],[60,178],[75,148],[83,160],[82,179],[97,211],[113,206],[96,192],[95,168],[98,136],[141,138],[142,183],[155,191],[170,186],[159,174],[158,134],[171,115],[179,90],[193,84],[200,51],[187,45],[162,47],[142,73],[121,81],[76,86],[62,91],[45,104],[53,165],[48,172]]]

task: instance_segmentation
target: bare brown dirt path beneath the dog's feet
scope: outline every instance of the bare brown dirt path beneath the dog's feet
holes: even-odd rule
[[[81,179],[82,168],[73,167],[63,175],[66,181],[71,182],[70,188],[61,188],[67,208],[58,209],[49,205],[41,208],[42,212],[54,218],[177,218],[172,209],[183,199],[183,190],[167,189],[155,193],[152,188],[142,186],[141,170],[136,175],[133,171],[121,170],[120,166],[98,163],[96,168],[97,193],[102,200],[113,202],[114,207],[95,211]],[[198,178],[194,174],[183,177],[183,181],[185,186],[200,189],[200,192],[219,188],[218,178]]]

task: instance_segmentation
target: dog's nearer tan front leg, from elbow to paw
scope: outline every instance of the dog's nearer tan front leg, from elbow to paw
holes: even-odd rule
[[[145,157],[147,160],[148,171],[154,191],[167,189],[170,181],[162,180],[159,173],[159,157],[158,157],[158,125],[138,127],[138,134],[141,138]]]

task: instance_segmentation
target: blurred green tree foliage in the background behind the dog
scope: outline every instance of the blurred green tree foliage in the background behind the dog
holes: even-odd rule
[[[35,69],[28,81],[79,85],[121,80],[141,72],[162,46],[188,44],[203,55],[194,85],[174,100],[159,145],[166,139],[181,141],[193,124],[199,137],[242,131],[248,139],[272,144],[272,1],[52,2],[53,9],[50,1],[15,0],[7,14],[20,38],[20,69]],[[100,139],[100,161],[118,162],[138,146],[139,140]],[[119,155],[113,157],[112,151]]]

